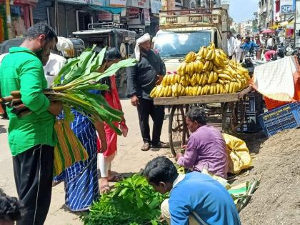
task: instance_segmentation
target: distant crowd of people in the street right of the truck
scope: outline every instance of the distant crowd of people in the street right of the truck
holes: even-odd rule
[[[272,56],[281,56],[277,49],[272,34],[256,34],[254,36],[233,36],[231,31],[227,35],[227,51],[229,59],[243,61],[243,56],[247,53],[254,55],[257,60],[270,61]]]

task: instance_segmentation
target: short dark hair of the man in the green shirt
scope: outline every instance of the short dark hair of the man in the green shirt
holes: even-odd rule
[[[48,26],[47,24],[43,24],[43,23],[34,24],[34,26],[31,26],[26,31],[24,36],[26,39],[32,40],[32,39],[36,39],[41,34],[44,34],[46,36],[46,41],[55,38],[57,42],[57,36],[54,29],[52,29],[51,26]]]

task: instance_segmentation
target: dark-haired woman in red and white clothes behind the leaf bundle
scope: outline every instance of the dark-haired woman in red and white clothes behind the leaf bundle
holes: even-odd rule
[[[107,49],[105,53],[105,62],[103,66],[101,66],[100,71],[104,72],[106,69],[109,68],[112,64],[118,63],[121,61],[122,56],[118,49],[111,48]],[[104,79],[101,79],[101,84],[106,84],[109,86],[108,91],[102,91],[102,95],[104,96],[107,103],[113,108],[117,109],[119,111],[122,111],[121,101],[119,99],[118,90],[116,88],[116,76],[110,76],[106,77]],[[128,128],[126,126],[126,121],[124,116],[122,116],[121,122],[118,124],[117,122],[114,123],[116,127],[120,126],[120,129],[123,133],[123,136],[127,136]],[[114,129],[111,129],[111,127],[104,123],[104,129],[105,129],[105,136],[106,136],[106,143],[107,148],[104,149],[105,151],[103,153],[98,154],[99,159],[99,167],[100,167],[100,173],[101,173],[101,183],[100,183],[100,193],[105,194],[110,191],[109,187],[109,181],[120,181],[121,176],[118,176],[117,174],[112,174],[111,172],[111,161],[114,160],[114,156],[116,155],[116,141],[117,141],[117,134],[114,131]],[[101,140],[98,139],[97,144],[99,145],[99,149],[101,149]]]

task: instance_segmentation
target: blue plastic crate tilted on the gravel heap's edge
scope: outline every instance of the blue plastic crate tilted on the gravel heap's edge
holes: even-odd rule
[[[285,129],[300,126],[300,102],[280,106],[258,116],[264,134],[272,136]]]

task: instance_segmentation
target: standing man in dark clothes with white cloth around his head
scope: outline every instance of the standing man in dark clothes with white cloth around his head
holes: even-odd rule
[[[131,97],[131,104],[137,107],[139,114],[139,126],[144,144],[142,151],[148,151],[150,147],[166,148],[166,144],[160,140],[161,128],[164,122],[164,106],[154,106],[150,92],[156,84],[159,84],[166,66],[161,61],[159,54],[151,49],[151,38],[144,34],[136,40],[133,57],[136,58],[135,66],[127,69],[128,96]],[[149,116],[153,119],[152,139],[150,138]]]

